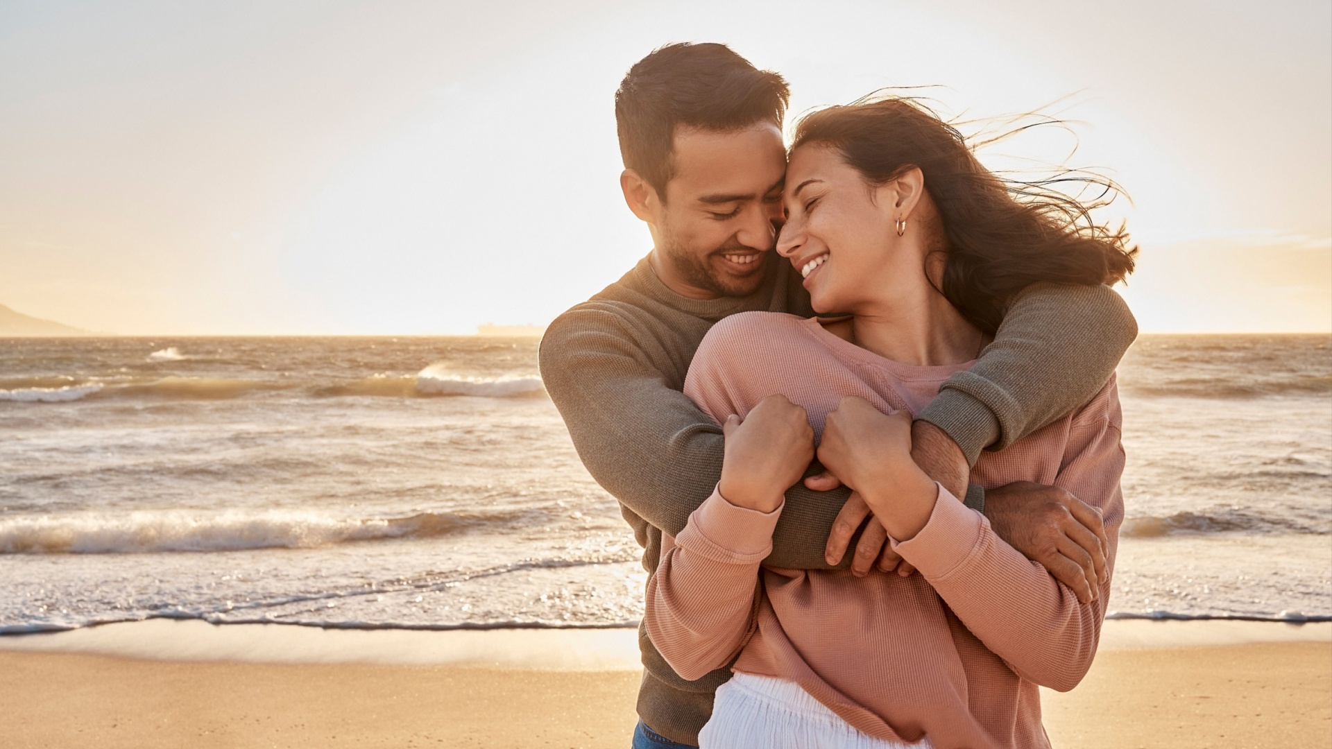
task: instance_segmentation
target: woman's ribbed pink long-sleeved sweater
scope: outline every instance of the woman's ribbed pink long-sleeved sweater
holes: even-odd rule
[[[685,392],[718,422],[782,393],[817,434],[843,396],[919,412],[956,367],[890,361],[817,320],[751,312],[713,327]],[[1123,520],[1115,382],[1082,410],[998,453],[971,481],[1062,486],[1104,513],[1114,565]],[[984,516],[943,488],[924,529],[894,542],[919,574],[774,569],[771,513],[713,493],[678,538],[666,537],[647,584],[645,624],[685,678],[733,670],[799,684],[856,729],[936,749],[1048,746],[1038,685],[1072,689],[1091,666],[1110,584],[1083,605],[995,536]]]

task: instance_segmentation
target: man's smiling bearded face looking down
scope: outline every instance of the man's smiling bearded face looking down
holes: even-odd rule
[[[653,211],[658,273],[695,299],[754,293],[782,220],[781,131],[678,128],[674,148],[675,176]]]

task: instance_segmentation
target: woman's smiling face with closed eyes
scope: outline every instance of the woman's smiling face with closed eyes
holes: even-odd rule
[[[817,312],[864,312],[891,300],[908,273],[920,275],[923,259],[899,241],[896,208],[882,192],[832,148],[791,153],[777,252],[805,276]]]

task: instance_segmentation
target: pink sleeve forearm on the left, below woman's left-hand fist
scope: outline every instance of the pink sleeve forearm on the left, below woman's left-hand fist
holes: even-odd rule
[[[694,510],[679,538],[662,537],[647,580],[647,637],[690,681],[729,664],[749,640],[759,601],[759,562],[773,550],[782,508],[739,508],[719,492]]]

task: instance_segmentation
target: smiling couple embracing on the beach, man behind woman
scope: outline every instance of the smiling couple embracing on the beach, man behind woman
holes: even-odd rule
[[[1048,746],[1124,465],[1123,232],[911,100],[802,117],[721,44],[615,93],[653,251],[541,373],[650,573],[635,748]]]

